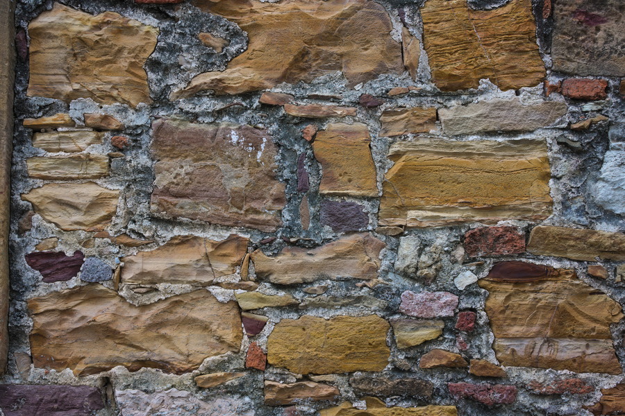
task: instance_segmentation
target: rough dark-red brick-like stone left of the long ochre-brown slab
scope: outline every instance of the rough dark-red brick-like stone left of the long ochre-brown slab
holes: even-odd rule
[[[479,227],[465,234],[469,257],[503,256],[525,251],[525,235],[516,227]]]

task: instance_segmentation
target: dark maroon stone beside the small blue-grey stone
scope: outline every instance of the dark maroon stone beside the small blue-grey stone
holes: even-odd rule
[[[32,252],[26,254],[26,263],[43,276],[45,283],[67,281],[76,277],[83,266],[85,254],[76,251],[72,257],[64,252]]]

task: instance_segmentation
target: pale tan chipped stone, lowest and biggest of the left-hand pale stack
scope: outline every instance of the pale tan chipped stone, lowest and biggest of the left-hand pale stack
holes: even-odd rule
[[[102,231],[117,212],[119,191],[94,182],[45,184],[22,194],[22,199],[31,202],[37,214],[60,229]]]

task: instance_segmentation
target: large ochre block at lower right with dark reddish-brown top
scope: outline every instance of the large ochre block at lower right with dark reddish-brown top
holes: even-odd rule
[[[573,270],[506,261],[478,284],[489,291],[486,313],[503,365],[622,371],[610,332],[623,318],[621,306]]]

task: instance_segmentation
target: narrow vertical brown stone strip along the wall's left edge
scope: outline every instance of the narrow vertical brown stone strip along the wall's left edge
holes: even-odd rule
[[[8,354],[8,233],[15,82],[15,3],[0,3],[0,375]]]

